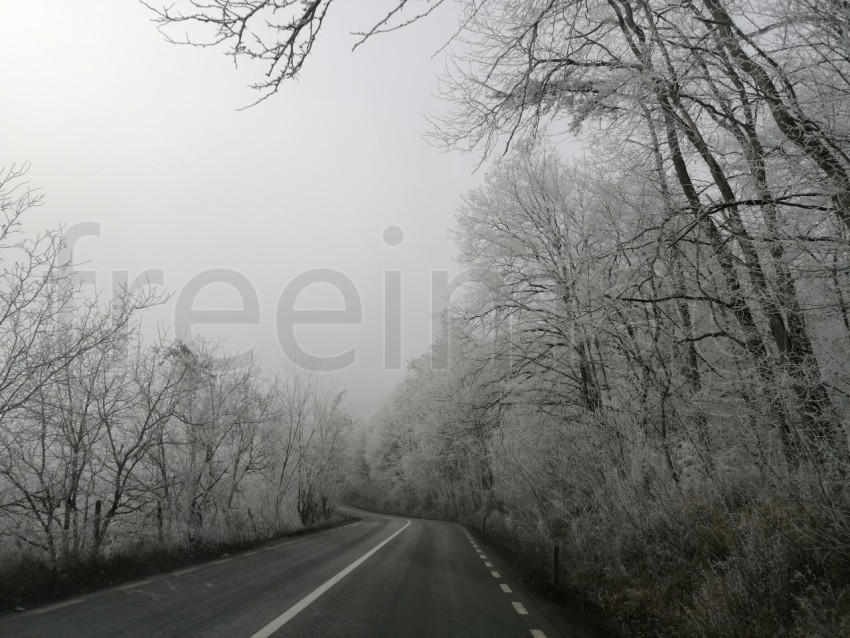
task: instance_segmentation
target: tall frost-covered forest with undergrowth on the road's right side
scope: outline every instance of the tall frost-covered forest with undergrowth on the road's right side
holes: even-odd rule
[[[848,18],[468,3],[435,134],[513,139],[457,215],[476,283],[355,446],[351,498],[543,574],[557,545],[629,635],[850,633]],[[545,141],[564,121],[578,158]]]

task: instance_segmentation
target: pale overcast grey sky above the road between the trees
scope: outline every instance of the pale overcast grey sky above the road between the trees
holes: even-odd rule
[[[352,30],[385,3],[340,2],[329,12],[299,82],[256,99],[250,69],[212,50],[167,44],[133,0],[0,2],[0,164],[31,160],[30,182],[46,204],[31,228],[96,222],[100,237],[75,260],[109,290],[161,270],[175,295],[146,320],[173,325],[176,296],[213,268],[244,275],[260,302],[257,325],[198,332],[234,350],[256,347],[280,364],[276,309],[287,284],[314,268],[350,279],[363,323],[300,328],[316,355],[357,348],[338,374],[351,407],[368,415],[400,379],[383,354],[384,278],[402,277],[402,361],[432,339],[431,273],[450,271],[448,229],[459,196],[480,182],[477,157],[446,154],[422,137],[451,35],[454,7],[351,53]],[[374,7],[374,10],[364,7]],[[398,226],[404,239],[387,245]],[[339,308],[332,286],[314,285],[299,307]],[[195,307],[239,308],[226,284]],[[173,331],[173,330],[172,330]]]

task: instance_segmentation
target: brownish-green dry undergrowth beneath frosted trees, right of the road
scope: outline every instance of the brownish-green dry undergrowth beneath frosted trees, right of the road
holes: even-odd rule
[[[627,516],[588,512],[558,539],[560,589],[626,635],[850,636],[850,557],[835,542],[846,510],[683,497]],[[504,515],[487,523],[548,578],[554,540],[529,532]]]

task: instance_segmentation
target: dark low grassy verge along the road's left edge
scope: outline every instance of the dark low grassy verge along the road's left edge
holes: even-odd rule
[[[222,555],[238,554],[259,547],[275,539],[337,527],[350,520],[350,517],[336,516],[310,527],[288,530],[274,536],[234,542],[208,541],[194,547],[142,544],[106,558],[68,563],[57,570],[51,569],[44,560],[20,556],[0,565],[0,614],[28,610],[54,600],[201,564]]]

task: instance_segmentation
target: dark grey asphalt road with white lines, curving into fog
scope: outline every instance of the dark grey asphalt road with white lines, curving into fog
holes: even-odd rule
[[[348,513],[361,520],[0,616],[0,636],[563,635],[462,526]]]

